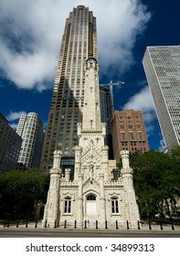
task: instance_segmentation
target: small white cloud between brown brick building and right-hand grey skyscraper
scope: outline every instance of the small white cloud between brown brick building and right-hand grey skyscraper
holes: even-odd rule
[[[148,135],[154,132],[154,119],[156,118],[154,110],[154,101],[148,86],[133,95],[123,106],[123,109],[133,109],[143,111],[143,121]]]

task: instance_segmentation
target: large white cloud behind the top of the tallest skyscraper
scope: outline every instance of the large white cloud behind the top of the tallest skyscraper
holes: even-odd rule
[[[130,67],[135,39],[150,18],[139,0],[1,0],[0,69],[17,87],[53,86],[47,81],[54,80],[65,21],[79,4],[97,17],[101,73],[111,67],[121,75]]]

